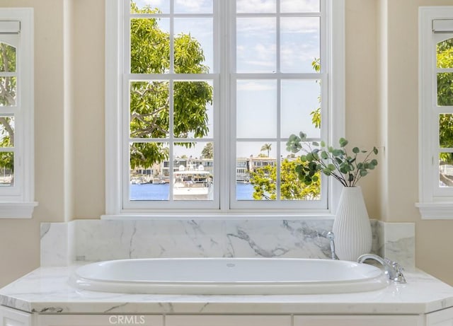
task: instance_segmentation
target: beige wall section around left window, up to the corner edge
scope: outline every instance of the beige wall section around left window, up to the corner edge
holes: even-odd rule
[[[0,220],[0,286],[40,263],[40,222],[64,221],[64,2],[2,0],[2,7],[35,8],[35,198],[30,220]]]

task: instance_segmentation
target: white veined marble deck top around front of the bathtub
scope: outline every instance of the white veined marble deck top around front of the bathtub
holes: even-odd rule
[[[420,271],[378,291],[272,296],[153,295],[76,290],[76,266],[40,267],[0,290],[0,305],[39,313],[382,313],[420,314],[453,306],[453,288]]]

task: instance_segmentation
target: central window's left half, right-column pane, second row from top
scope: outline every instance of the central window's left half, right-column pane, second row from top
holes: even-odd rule
[[[175,18],[176,74],[206,74],[214,69],[212,18]]]

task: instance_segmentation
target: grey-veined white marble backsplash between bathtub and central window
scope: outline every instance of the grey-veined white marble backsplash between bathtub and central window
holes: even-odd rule
[[[371,220],[372,252],[415,265],[413,223]],[[149,257],[330,257],[331,219],[75,220],[42,223],[41,266]]]

